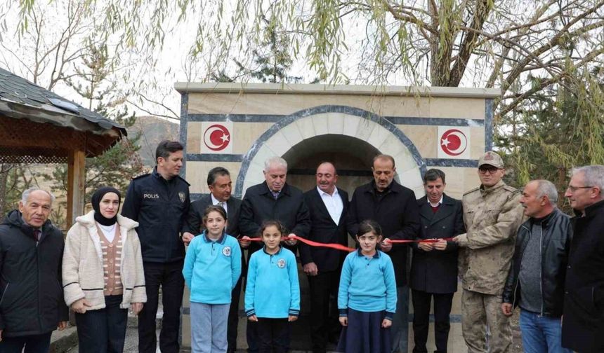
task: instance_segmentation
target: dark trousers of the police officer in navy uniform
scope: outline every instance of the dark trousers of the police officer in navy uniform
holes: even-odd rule
[[[178,353],[178,333],[180,330],[180,306],[183,304],[185,279],[183,261],[171,263],[143,262],[147,303],[138,314],[138,352],[155,353],[155,315],[159,286],[162,286],[164,317],[162,331],[159,332],[159,349],[162,353]]]

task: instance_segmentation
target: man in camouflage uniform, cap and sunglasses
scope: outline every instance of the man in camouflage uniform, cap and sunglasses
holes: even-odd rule
[[[468,353],[487,352],[486,327],[490,328],[489,352],[511,352],[509,318],[501,312],[501,293],[514,253],[516,231],[523,221],[520,193],[503,180],[504,161],[493,151],[478,160],[480,186],[464,194],[466,233],[459,244],[461,330]]]

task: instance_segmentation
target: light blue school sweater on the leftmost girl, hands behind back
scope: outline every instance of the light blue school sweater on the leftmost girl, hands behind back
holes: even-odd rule
[[[183,277],[193,303],[228,304],[231,291],[241,275],[241,249],[234,237],[223,234],[218,240],[207,231],[189,244]]]

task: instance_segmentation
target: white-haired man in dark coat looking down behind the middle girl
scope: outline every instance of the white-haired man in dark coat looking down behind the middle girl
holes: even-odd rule
[[[262,242],[250,242],[250,237],[260,236],[258,230],[264,221],[277,220],[289,232],[288,235],[306,237],[310,230],[310,215],[302,191],[287,184],[287,162],[273,157],[264,163],[264,179],[261,184],[250,186],[241,202],[239,244],[248,248],[248,261],[254,251],[262,249]],[[287,240],[286,247],[296,252],[296,240]],[[251,244],[250,244],[251,243]],[[247,322],[248,352],[258,352],[257,323]]]

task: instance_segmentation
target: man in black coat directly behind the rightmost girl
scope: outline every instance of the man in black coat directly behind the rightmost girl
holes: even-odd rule
[[[356,188],[348,211],[348,233],[357,235],[359,223],[377,221],[385,239],[381,249],[388,251],[395,270],[397,286],[396,314],[393,320],[393,352],[407,352],[409,333],[409,287],[407,286],[406,244],[393,246],[388,240],[412,240],[419,234],[419,208],[415,193],[394,181],[396,167],[390,155],[376,155],[374,180]]]

